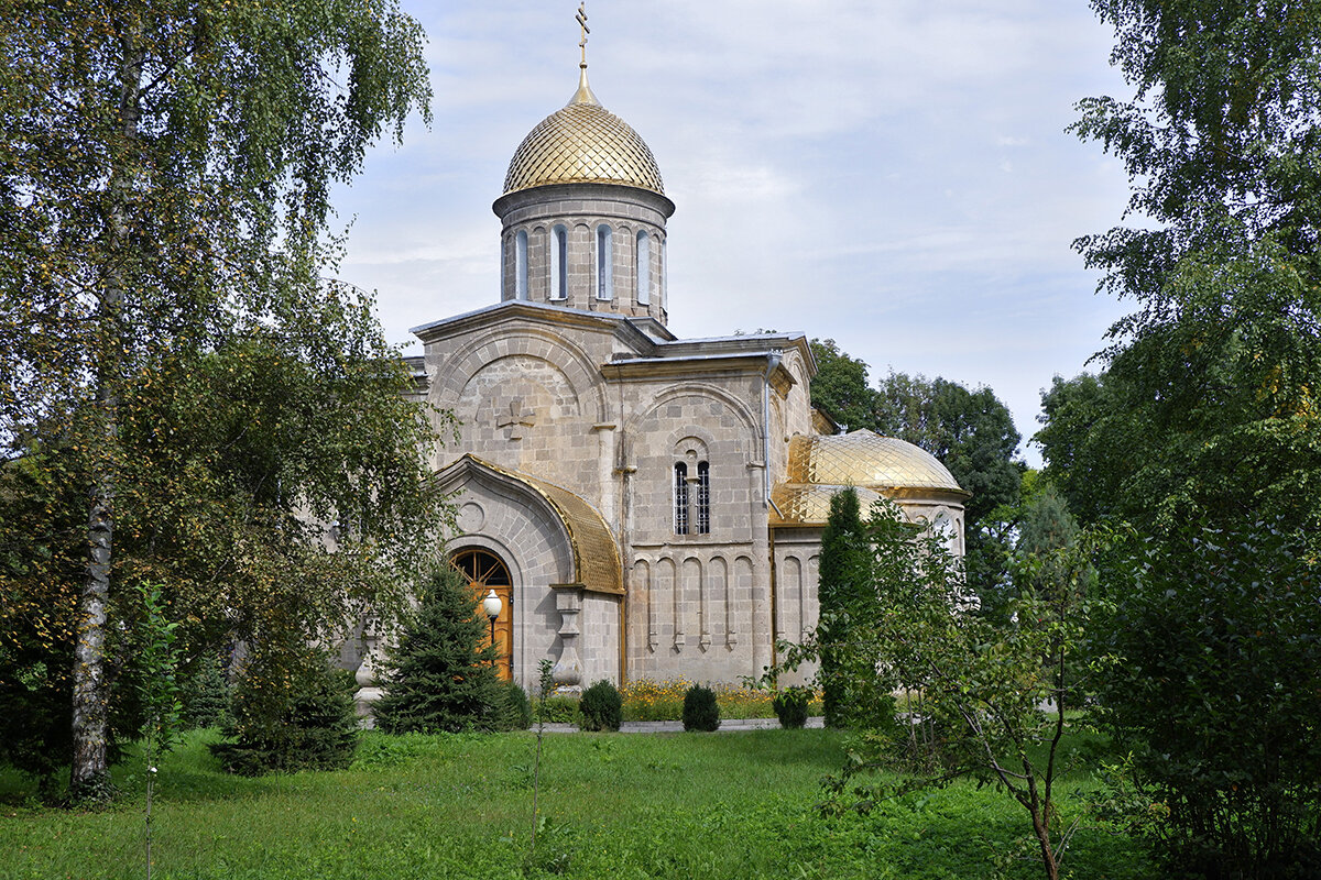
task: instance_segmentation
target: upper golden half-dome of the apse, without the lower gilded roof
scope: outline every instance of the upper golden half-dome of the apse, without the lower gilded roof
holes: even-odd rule
[[[868,430],[793,438],[787,482],[963,492],[945,464],[926,450]]]

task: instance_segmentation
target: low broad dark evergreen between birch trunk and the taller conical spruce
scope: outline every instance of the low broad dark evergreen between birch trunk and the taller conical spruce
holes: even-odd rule
[[[231,711],[226,740],[211,745],[230,773],[333,770],[353,763],[353,679],[324,654],[258,645],[239,673]]]

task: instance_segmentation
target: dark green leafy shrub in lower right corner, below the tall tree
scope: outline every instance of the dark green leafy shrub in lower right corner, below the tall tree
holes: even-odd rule
[[[1100,686],[1166,864],[1207,877],[1321,871],[1321,569],[1280,522],[1188,528],[1107,570]]]

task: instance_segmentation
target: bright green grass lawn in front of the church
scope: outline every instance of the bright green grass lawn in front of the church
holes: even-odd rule
[[[532,734],[370,734],[349,770],[255,780],[221,773],[211,739],[194,734],[161,764],[159,880],[524,876]],[[528,873],[1044,876],[1026,814],[992,789],[955,785],[867,817],[816,815],[820,777],[841,749],[822,730],[547,735]],[[34,806],[25,780],[0,773],[0,879],[145,876],[141,770],[137,760],[116,768],[124,796],[100,813]],[[1155,876],[1129,840],[1087,827],[1065,867],[1081,880]]]

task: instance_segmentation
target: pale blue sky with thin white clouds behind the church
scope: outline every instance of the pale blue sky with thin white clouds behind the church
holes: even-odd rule
[[[523,136],[577,86],[569,0],[402,0],[428,36],[412,119],[334,197],[341,278],[388,339],[499,299],[490,210]],[[802,331],[889,372],[988,387],[1026,439],[1128,303],[1071,243],[1128,181],[1065,129],[1131,94],[1085,0],[594,0],[588,74],[678,206],[670,330]],[[1090,369],[1095,371],[1096,364]]]

